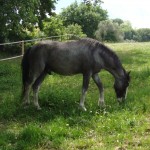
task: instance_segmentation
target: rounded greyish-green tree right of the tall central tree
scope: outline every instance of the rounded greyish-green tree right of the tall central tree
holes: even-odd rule
[[[118,42],[123,40],[123,32],[118,23],[114,23],[111,20],[101,21],[98,24],[95,36],[101,41]]]

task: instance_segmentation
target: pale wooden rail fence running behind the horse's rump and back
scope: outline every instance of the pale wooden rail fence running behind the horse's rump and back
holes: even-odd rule
[[[3,50],[0,49],[0,62],[22,57],[27,47],[39,41],[43,40],[67,41],[75,39],[79,39],[79,36],[73,34],[66,34],[31,40],[23,40],[17,42],[1,43],[0,46],[3,46]]]

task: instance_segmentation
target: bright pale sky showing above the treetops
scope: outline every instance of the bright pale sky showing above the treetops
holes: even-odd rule
[[[82,0],[76,0],[80,3]],[[102,0],[103,9],[107,10],[109,19],[120,18],[130,21],[133,28],[150,28],[150,0]],[[66,8],[75,0],[59,0],[56,13]]]

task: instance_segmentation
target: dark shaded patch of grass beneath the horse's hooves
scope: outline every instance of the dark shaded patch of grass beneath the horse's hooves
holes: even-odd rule
[[[79,125],[81,118],[89,121],[97,114],[107,115],[108,113],[122,111],[128,107],[127,103],[119,105],[111,96],[106,96],[106,99],[109,99],[109,101],[106,102],[106,107],[99,107],[97,106],[97,102],[93,104],[93,101],[89,101],[88,99],[85,104],[87,111],[84,112],[79,108],[79,100],[76,99],[79,97],[77,94],[73,95],[73,93],[70,94],[69,92],[63,92],[60,93],[60,95],[57,95],[54,92],[49,93],[47,99],[44,99],[44,96],[42,95],[40,97],[39,103],[42,110],[37,110],[32,103],[29,107],[24,108],[21,105],[19,94],[17,97],[8,97],[7,100],[5,99],[5,101],[0,104],[0,119],[4,122],[17,121],[22,123],[46,123],[61,117],[64,119],[73,118],[74,121],[71,121],[71,124]],[[81,123],[81,125],[83,124]]]

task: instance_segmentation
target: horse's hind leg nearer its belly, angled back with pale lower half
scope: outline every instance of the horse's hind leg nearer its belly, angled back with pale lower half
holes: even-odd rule
[[[39,102],[38,102],[38,92],[39,92],[39,89],[40,89],[40,85],[41,83],[43,82],[45,76],[46,76],[46,72],[43,71],[41,73],[41,75],[35,80],[34,84],[32,85],[32,88],[33,88],[33,103],[34,103],[34,106],[40,110],[41,107],[39,105]]]

